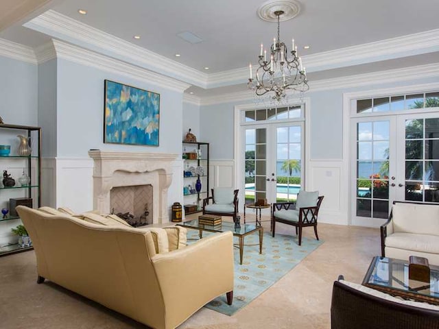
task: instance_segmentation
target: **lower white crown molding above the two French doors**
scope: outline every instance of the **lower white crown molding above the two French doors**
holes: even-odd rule
[[[314,82],[309,82],[310,88],[307,93],[315,93],[322,90],[367,86],[370,84],[377,85],[403,82],[427,77],[439,77],[439,63],[411,66],[403,69],[364,73],[359,75],[349,75],[346,77],[337,77],[333,79],[317,80]],[[298,97],[300,96],[297,94],[296,98]],[[250,90],[244,90],[236,93],[202,97],[200,105],[209,106],[218,103],[248,101],[253,98],[254,95]],[[295,95],[292,95],[290,98],[294,99]]]

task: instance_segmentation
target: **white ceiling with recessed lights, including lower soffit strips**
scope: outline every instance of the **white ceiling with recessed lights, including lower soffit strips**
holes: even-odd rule
[[[299,1],[298,16],[281,22],[281,39],[289,45],[294,37],[302,56],[439,28],[438,0]],[[43,4],[45,10],[51,8],[203,73],[240,69],[249,62],[255,64],[260,43],[268,45],[276,34],[276,23],[262,21],[257,16],[263,0],[1,0],[0,12],[10,12],[10,7],[17,3],[27,5],[27,21],[40,13]],[[34,3],[36,11],[29,10],[29,3]],[[79,14],[79,8],[88,13]],[[19,22],[11,25],[10,21]],[[25,21],[22,17],[12,20],[0,15],[0,27],[8,22],[10,25],[0,32],[0,38],[30,47],[49,40],[49,36],[22,27]],[[176,34],[180,32],[191,32],[203,41],[193,45],[178,38]],[[134,40],[134,35],[140,35],[141,39]],[[305,50],[304,45],[311,48]],[[175,53],[181,57],[176,58]],[[439,62],[438,53],[401,55],[393,60],[351,63],[344,68],[310,73],[309,80],[432,62]],[[209,71],[204,66],[209,66]]]

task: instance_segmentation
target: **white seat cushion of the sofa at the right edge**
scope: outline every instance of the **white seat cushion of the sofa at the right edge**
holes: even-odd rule
[[[429,234],[411,234],[395,232],[385,238],[385,246],[439,254],[439,236]]]

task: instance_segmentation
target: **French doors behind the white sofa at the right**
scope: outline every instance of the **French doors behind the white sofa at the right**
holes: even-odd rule
[[[439,202],[439,114],[351,119],[351,218],[377,227],[392,202]]]

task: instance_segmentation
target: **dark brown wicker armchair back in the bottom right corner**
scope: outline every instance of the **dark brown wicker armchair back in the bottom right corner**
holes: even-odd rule
[[[332,289],[331,329],[353,328],[438,329],[439,311],[385,300],[335,281]]]

